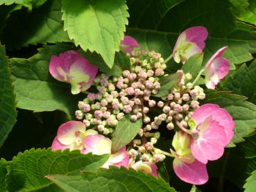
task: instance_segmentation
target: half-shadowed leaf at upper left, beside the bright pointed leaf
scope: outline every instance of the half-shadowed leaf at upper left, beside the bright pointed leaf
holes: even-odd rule
[[[70,42],[63,30],[60,9],[60,0],[52,0],[31,12],[12,12],[0,39],[7,49],[17,49],[29,44]]]

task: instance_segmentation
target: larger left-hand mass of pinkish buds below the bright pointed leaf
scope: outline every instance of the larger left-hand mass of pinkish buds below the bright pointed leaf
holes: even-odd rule
[[[121,77],[104,73],[97,76],[93,85],[98,92],[87,94],[78,103],[76,118],[83,119],[87,128],[96,126],[103,134],[109,134],[125,114],[131,114],[130,121],[151,121],[146,114],[156,105],[151,96],[160,89],[158,80],[164,75],[166,64],[155,51],[136,51],[130,60],[130,71],[123,71]]]

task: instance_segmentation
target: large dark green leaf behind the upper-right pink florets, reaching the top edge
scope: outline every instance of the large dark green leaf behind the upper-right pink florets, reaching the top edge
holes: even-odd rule
[[[128,33],[137,38],[143,48],[159,51],[167,57],[182,30],[190,26],[205,26],[209,31],[205,60],[222,46],[228,46],[224,56],[232,64],[253,59],[251,53],[256,53],[255,28],[236,21],[228,1],[173,1],[179,2],[178,5],[169,2],[129,1]],[[163,8],[166,11],[161,15]]]

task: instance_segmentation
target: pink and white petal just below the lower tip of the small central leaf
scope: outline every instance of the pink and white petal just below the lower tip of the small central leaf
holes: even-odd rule
[[[118,152],[110,155],[110,158],[107,162],[102,166],[103,168],[108,168],[109,166],[117,166],[121,167],[124,166],[128,168],[129,163],[129,156],[128,152],[126,151],[126,147],[122,148]]]

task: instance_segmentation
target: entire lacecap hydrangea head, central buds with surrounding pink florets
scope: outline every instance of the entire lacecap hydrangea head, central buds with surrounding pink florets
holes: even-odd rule
[[[61,125],[52,148],[78,149],[95,155],[105,152],[110,154],[110,159],[103,167],[125,166],[155,177],[155,163],[162,162],[168,155],[174,157],[173,170],[181,180],[191,184],[207,182],[206,164],[208,160],[223,155],[225,146],[233,137],[234,122],[230,114],[218,105],[199,105],[205,93],[196,81],[204,73],[205,86],[214,89],[227,75],[230,64],[222,56],[227,47],[219,49],[196,77],[178,70],[176,85],[162,98],[157,97],[160,78],[168,75],[164,71],[166,62],[173,56],[176,62],[186,64],[192,55],[202,53],[206,38],[206,28],[188,28],[178,37],[173,54],[164,60],[155,51],[133,51],[133,47],[139,45],[133,37],[125,36],[120,46],[130,57],[131,67],[120,77],[101,73],[95,78],[97,67],[76,51],[53,56],[49,67],[52,76],[71,83],[73,94],[87,90],[87,97],[79,101],[79,110],[76,111],[76,118],[83,123],[71,121]],[[111,140],[102,134],[113,133],[126,114],[133,122],[142,119],[142,128],[127,148],[112,154]],[[160,139],[157,129],[162,123],[168,130],[176,132],[171,153],[154,146]]]

